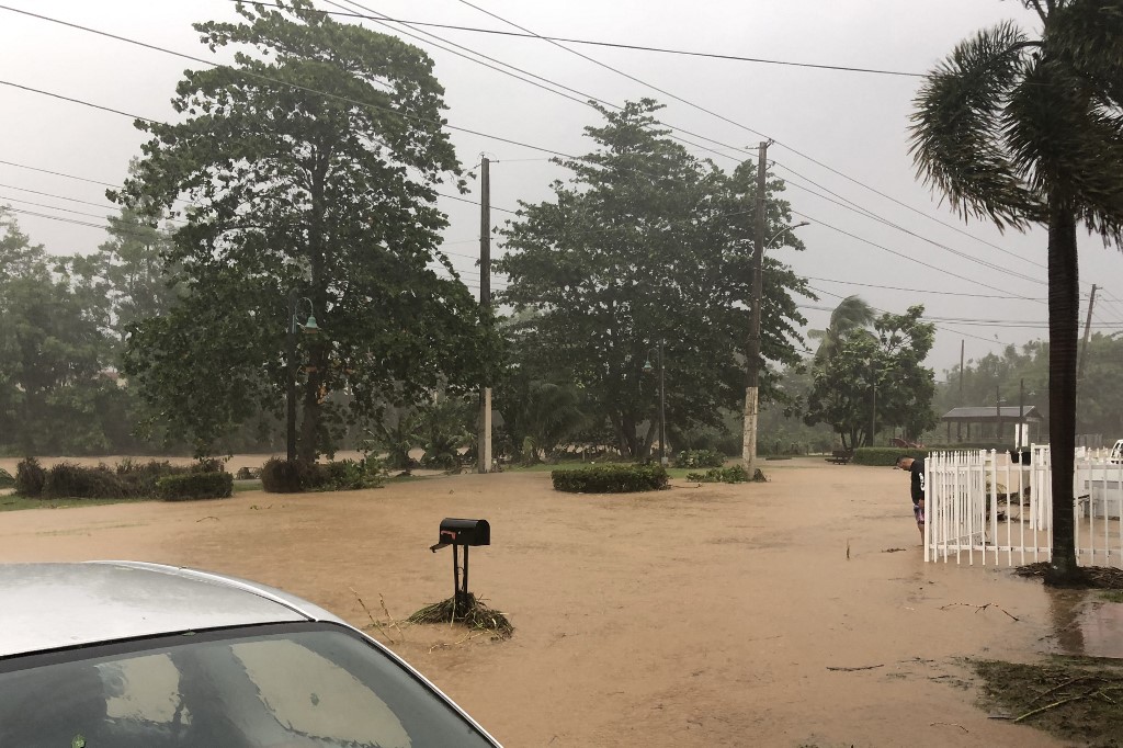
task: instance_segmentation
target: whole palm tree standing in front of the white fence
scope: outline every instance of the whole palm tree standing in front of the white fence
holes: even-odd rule
[[[1072,496],[1079,277],[1076,229],[1123,228],[1123,13],[1117,0],[1022,0],[1041,37],[1013,22],[961,42],[925,79],[912,116],[924,181],[967,217],[1049,229],[1052,562],[1079,581]]]

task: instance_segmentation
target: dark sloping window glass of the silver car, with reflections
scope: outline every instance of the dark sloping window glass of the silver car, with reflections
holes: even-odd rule
[[[369,642],[330,624],[290,624],[0,660],[0,746],[493,744]]]

